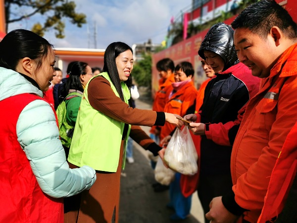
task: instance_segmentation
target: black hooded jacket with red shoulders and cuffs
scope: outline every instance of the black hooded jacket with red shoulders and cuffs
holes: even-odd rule
[[[201,43],[198,54],[211,51],[223,58],[224,70],[208,82],[199,114],[205,123],[201,136],[200,173],[231,174],[232,144],[239,129],[238,113],[259,89],[259,78],[238,61],[233,44],[233,30],[224,23],[212,26]]]

